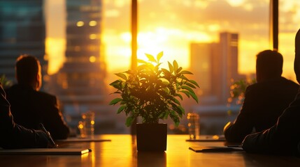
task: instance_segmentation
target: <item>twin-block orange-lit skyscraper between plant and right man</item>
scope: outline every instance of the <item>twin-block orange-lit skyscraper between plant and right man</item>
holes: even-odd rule
[[[201,86],[201,102],[226,104],[238,74],[238,34],[220,33],[219,43],[192,43],[191,70]]]

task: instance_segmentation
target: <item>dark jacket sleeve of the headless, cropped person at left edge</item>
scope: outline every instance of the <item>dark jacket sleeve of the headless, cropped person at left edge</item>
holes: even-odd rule
[[[0,148],[47,148],[48,138],[44,132],[26,129],[15,124],[10,104],[0,83]]]

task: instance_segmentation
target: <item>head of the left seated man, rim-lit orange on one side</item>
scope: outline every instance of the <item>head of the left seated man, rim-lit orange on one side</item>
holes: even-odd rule
[[[38,59],[28,54],[22,54],[15,63],[15,77],[18,84],[29,85],[34,90],[42,86],[41,65]]]

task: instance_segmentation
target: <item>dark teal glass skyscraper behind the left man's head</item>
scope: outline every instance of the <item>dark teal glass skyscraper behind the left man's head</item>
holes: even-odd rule
[[[15,81],[15,60],[20,54],[36,56],[46,74],[43,1],[0,1],[0,75]]]

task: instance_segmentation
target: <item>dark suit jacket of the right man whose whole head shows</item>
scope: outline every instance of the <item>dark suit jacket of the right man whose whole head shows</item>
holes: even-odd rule
[[[234,124],[224,129],[229,142],[242,142],[252,132],[261,132],[274,125],[294,100],[299,85],[283,77],[248,86],[245,100]]]

